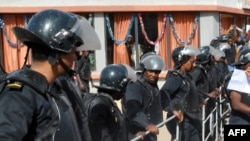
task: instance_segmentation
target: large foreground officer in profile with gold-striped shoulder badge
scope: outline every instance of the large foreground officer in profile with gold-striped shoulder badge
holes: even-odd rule
[[[89,34],[86,31],[93,29],[84,27],[78,15],[48,9],[36,13],[27,28],[13,28],[16,37],[31,49],[32,62],[30,67],[8,74],[1,83],[0,140],[53,141],[57,129],[63,129],[64,114],[58,104],[62,99],[50,90],[50,85],[72,72],[76,50],[88,49],[83,46],[84,39]],[[71,108],[62,105],[64,110]],[[68,135],[70,140],[82,140],[78,124],[73,123],[75,116],[67,117],[74,130],[64,134],[65,140]]]

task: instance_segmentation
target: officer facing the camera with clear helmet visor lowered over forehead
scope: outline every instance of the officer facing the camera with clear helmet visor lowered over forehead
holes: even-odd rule
[[[149,52],[141,57],[138,79],[128,84],[122,106],[125,114],[129,139],[138,131],[150,132],[145,141],[156,141],[159,129],[156,125],[163,120],[160,91],[157,85],[160,72],[165,68],[163,59]]]

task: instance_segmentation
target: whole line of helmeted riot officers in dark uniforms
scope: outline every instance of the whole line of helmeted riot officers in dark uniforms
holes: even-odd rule
[[[165,70],[164,60],[148,52],[141,56],[140,72],[125,64],[107,65],[95,86],[97,92],[83,93],[72,79],[76,52],[100,48],[85,18],[48,9],[36,13],[26,28],[14,27],[13,32],[31,49],[32,63],[0,83],[1,141],[128,141],[136,137],[157,141],[163,111],[167,118],[175,116],[166,124],[171,140],[177,138],[178,124],[179,140],[201,141],[202,105],[208,115],[218,96],[227,93],[222,90],[230,73],[225,53],[230,44],[224,35],[211,45],[176,47],[174,68],[168,70],[161,88],[158,79]],[[116,100],[121,100],[121,109]]]

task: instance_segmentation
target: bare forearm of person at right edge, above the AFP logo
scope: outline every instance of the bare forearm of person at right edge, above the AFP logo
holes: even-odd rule
[[[230,100],[232,109],[237,110],[241,113],[250,114],[250,107],[244,103],[242,103],[241,100],[241,94],[237,91],[231,91],[230,92]]]

